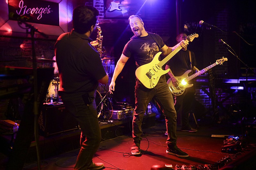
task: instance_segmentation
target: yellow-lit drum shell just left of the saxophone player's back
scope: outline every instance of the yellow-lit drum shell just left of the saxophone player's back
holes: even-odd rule
[[[60,80],[59,78],[54,78],[53,80],[51,80],[48,91],[47,91],[47,95],[46,95],[46,99],[48,102],[53,103],[53,102],[59,102],[59,94],[58,94],[58,90],[60,88]]]

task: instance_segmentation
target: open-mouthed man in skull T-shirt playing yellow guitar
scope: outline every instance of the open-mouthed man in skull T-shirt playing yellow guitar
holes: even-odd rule
[[[142,140],[142,119],[148,103],[151,101],[151,99],[155,99],[161,110],[164,110],[166,128],[168,129],[166,153],[182,158],[188,157],[188,154],[181,151],[176,145],[177,115],[173,105],[172,94],[168,88],[164,76],[168,70],[167,72],[164,72],[161,66],[162,64],[160,64],[161,62],[158,60],[160,50],[163,51],[163,55],[167,57],[172,52],[175,52],[175,50],[185,48],[188,42],[183,40],[176,46],[168,48],[168,46],[164,44],[163,39],[159,35],[146,32],[144,28],[144,22],[139,16],[130,16],[129,24],[132,32],[134,33],[134,36],[125,45],[123,53],[116,63],[114,74],[109,85],[109,92],[112,94],[113,91],[115,91],[115,81],[117,76],[123,70],[124,65],[128,59],[134,58],[138,67],[136,70],[138,74],[135,72],[137,80],[135,85],[135,109],[132,121],[132,155],[141,154],[140,141]],[[159,54],[158,56],[156,55],[157,53]],[[163,74],[158,74],[159,72]]]

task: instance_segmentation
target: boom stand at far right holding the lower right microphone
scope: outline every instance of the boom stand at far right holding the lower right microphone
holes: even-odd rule
[[[230,47],[230,46],[229,46]],[[229,49],[228,49],[228,46],[226,46],[227,50],[232,53]],[[231,47],[230,47],[231,48]],[[232,48],[231,48],[232,49]],[[248,124],[246,126],[246,131],[245,131],[245,135],[243,135],[243,125],[244,125],[244,120],[246,121],[247,120],[247,116],[248,116],[248,70],[251,70],[252,73],[256,74],[247,64],[245,64],[237,55],[236,55],[236,52],[232,49],[232,51],[234,53],[232,53],[241,63],[244,64],[244,66],[246,67],[246,83],[245,83],[245,102],[246,102],[246,113],[245,113],[245,117],[243,117],[242,119],[242,140],[241,140],[241,145],[243,144],[243,140],[244,140],[244,136],[246,135],[246,133],[248,132]],[[239,78],[238,78],[239,79]],[[238,88],[237,88],[237,91],[238,91]],[[248,123],[248,122],[247,122]]]

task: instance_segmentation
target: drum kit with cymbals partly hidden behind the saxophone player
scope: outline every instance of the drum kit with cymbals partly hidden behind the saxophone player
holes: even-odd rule
[[[107,64],[108,60],[113,60],[115,58],[113,57],[103,57],[101,58],[102,62],[105,62]],[[33,59],[29,59],[28,61],[33,61]],[[51,59],[45,59],[43,58],[37,58],[36,62],[41,63],[42,67],[44,67],[45,63],[54,63],[56,62],[55,60],[51,60]],[[108,73],[108,66],[106,67],[106,73]],[[56,74],[54,74],[56,76]],[[59,93],[58,90],[60,88],[60,78],[58,77],[54,77],[49,84],[49,88],[47,90],[47,94],[45,97],[45,102],[46,103],[61,103],[61,99],[59,97]],[[110,97],[109,97],[109,92],[108,92],[108,83],[106,84],[105,90],[107,91],[105,96],[101,96],[100,92],[97,90],[96,91],[96,98],[95,98],[95,102],[97,105],[97,113],[98,113],[98,117],[100,117],[100,115],[103,114],[103,117],[106,117],[105,115],[105,111],[108,110],[109,106],[109,101]],[[105,106],[105,107],[104,107]],[[110,110],[110,109],[109,109]]]

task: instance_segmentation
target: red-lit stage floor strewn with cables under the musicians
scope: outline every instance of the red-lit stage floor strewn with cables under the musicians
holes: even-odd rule
[[[193,125],[193,123],[191,123]],[[239,162],[246,155],[249,158],[255,158],[255,130],[249,129],[248,138],[246,142],[253,145],[246,145],[242,154],[221,152],[221,146],[225,138],[211,137],[212,135],[242,135],[244,129],[239,124],[215,124],[211,121],[198,122],[198,131],[196,133],[182,132],[180,126],[177,127],[177,146],[189,154],[188,158],[178,158],[176,156],[168,155],[166,151],[166,138],[164,135],[166,130],[165,122],[156,121],[155,126],[143,129],[143,140],[141,141],[141,155],[131,155],[130,147],[132,145],[131,131],[125,136],[115,137],[111,139],[102,140],[98,152],[96,152],[93,161],[104,163],[103,169],[125,169],[125,170],[150,170],[152,166],[165,164],[172,164],[173,169],[178,166],[189,165],[217,165],[224,166],[228,158],[235,159],[230,163]],[[117,125],[118,126],[118,125]],[[194,124],[195,127],[195,124]],[[127,128],[127,127],[126,127]],[[122,129],[122,126],[120,126]],[[131,130],[131,129],[130,129]],[[245,141],[244,141],[245,142]],[[253,150],[254,154],[247,153]],[[56,155],[52,158],[45,159],[42,164],[44,170],[64,170],[70,169],[76,162],[76,157],[79,150],[75,149],[70,152],[65,152]],[[249,156],[248,156],[249,155]],[[225,158],[226,157],[226,158]],[[252,158],[252,160],[255,160]],[[250,159],[247,159],[250,161]],[[251,161],[253,162],[253,161]],[[243,162],[242,162],[243,163]],[[242,164],[240,163],[240,165]],[[248,166],[249,162],[246,162]],[[241,165],[242,166],[242,165]],[[243,165],[244,166],[244,165]],[[35,168],[36,164],[26,164],[24,169]],[[243,168],[242,168],[243,169]]]

